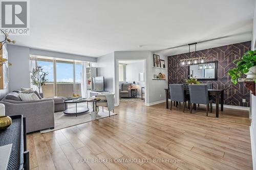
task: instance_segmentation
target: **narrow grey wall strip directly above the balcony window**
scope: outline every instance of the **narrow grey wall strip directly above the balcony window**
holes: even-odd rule
[[[90,61],[90,62],[97,61],[97,58],[94,58],[94,57],[79,56],[79,55],[59,53],[59,52],[51,52],[51,51],[46,51],[46,50],[37,50],[34,48],[30,48],[30,54],[37,55],[37,56],[54,57],[54,58],[73,59],[73,60],[79,60],[79,61]]]

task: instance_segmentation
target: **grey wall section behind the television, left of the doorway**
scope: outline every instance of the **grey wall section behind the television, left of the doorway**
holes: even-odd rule
[[[98,76],[105,79],[105,91],[115,92],[114,53],[98,57],[97,64]]]

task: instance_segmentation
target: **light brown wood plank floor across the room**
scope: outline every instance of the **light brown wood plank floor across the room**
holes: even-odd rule
[[[28,134],[30,168],[252,169],[247,111],[224,108],[216,118],[213,113],[206,117],[201,105],[190,114],[182,107],[170,111],[164,103],[126,102],[115,112],[110,118]]]

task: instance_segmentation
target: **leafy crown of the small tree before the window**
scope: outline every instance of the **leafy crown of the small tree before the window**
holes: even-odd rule
[[[31,71],[31,76],[30,76],[31,83],[38,87],[39,93],[40,93],[41,87],[44,86],[45,83],[48,82],[48,79],[46,79],[46,76],[48,74],[49,74],[49,72],[45,72],[41,66],[36,66]]]

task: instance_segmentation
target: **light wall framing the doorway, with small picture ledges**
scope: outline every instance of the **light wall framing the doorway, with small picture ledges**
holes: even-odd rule
[[[167,69],[153,68],[153,53],[150,51],[131,51],[131,52],[115,52],[115,82],[118,87],[118,61],[119,60],[144,60],[145,61],[145,105],[153,105],[159,102],[164,102],[165,91],[168,87],[167,80],[152,80],[154,74],[159,72],[167,76]],[[165,60],[167,67],[167,57],[160,56],[160,59]],[[119,104],[119,89],[115,88],[116,98],[115,103]]]

